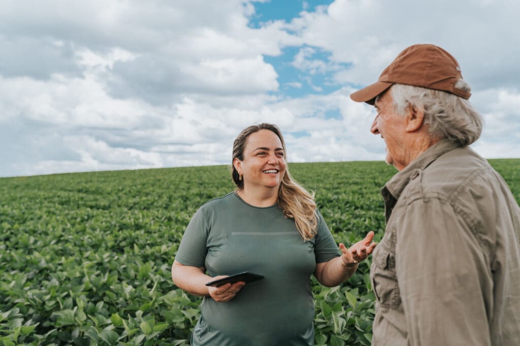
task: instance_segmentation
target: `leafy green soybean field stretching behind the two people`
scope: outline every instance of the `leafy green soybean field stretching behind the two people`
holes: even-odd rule
[[[490,160],[520,201],[520,159]],[[293,163],[337,243],[384,232],[383,162]],[[171,279],[191,216],[234,188],[226,166],[0,178],[0,345],[182,345],[200,297]],[[369,258],[311,278],[317,345],[369,345]]]

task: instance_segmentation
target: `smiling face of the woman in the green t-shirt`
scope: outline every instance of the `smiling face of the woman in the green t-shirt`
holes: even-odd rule
[[[233,165],[243,174],[244,188],[278,188],[285,173],[282,142],[276,133],[260,130],[248,136],[243,160],[235,158]]]

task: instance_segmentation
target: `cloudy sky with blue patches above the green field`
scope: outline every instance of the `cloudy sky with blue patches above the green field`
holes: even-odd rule
[[[382,160],[349,94],[404,48],[457,58],[485,119],[472,147],[519,157],[512,0],[6,1],[0,176],[227,164],[254,122],[290,162]],[[427,13],[427,15],[423,15]]]

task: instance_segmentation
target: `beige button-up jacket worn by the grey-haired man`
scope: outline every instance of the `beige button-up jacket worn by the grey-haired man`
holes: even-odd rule
[[[373,345],[520,345],[520,209],[469,147],[442,141],[382,189]]]

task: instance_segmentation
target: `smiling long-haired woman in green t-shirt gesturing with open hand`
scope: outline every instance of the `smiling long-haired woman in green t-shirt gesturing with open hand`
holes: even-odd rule
[[[233,144],[237,190],[205,203],[190,221],[172,279],[204,296],[192,345],[312,345],[310,275],[339,285],[373,251],[373,232],[338,250],[313,196],[289,174],[286,157],[278,127],[244,129]],[[205,285],[243,271],[265,278]]]

